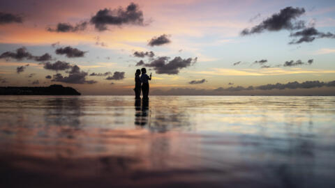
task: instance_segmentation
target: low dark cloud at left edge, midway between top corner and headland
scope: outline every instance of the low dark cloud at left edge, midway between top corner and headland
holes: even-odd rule
[[[31,53],[27,52],[25,47],[20,47],[16,49],[16,52],[3,52],[0,55],[0,58],[13,58],[17,61],[21,61],[22,59],[34,60],[34,61],[50,61],[52,56],[50,54],[43,54],[42,56],[33,56]]]

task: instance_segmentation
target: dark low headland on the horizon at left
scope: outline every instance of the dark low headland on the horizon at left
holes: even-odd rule
[[[48,87],[0,87],[0,95],[81,95],[71,87],[50,85]]]

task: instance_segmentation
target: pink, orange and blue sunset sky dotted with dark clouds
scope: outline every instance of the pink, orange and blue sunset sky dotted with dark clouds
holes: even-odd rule
[[[334,95],[334,59],[335,1],[0,1],[0,86]]]

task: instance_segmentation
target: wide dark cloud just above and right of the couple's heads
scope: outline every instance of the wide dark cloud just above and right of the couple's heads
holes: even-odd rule
[[[193,65],[197,62],[198,58],[183,59],[180,56],[177,56],[171,61],[169,61],[169,59],[170,58],[167,56],[158,57],[150,63],[144,63],[144,66],[154,68],[157,74],[177,75],[179,73],[179,70]]]

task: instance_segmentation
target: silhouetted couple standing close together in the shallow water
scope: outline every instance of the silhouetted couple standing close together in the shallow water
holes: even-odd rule
[[[141,75],[141,77],[140,77]],[[135,99],[140,100],[141,97],[141,89],[143,100],[149,100],[149,80],[151,80],[151,73],[150,77],[147,75],[147,70],[145,68],[137,69],[135,72]],[[142,86],[141,86],[142,84]]]

